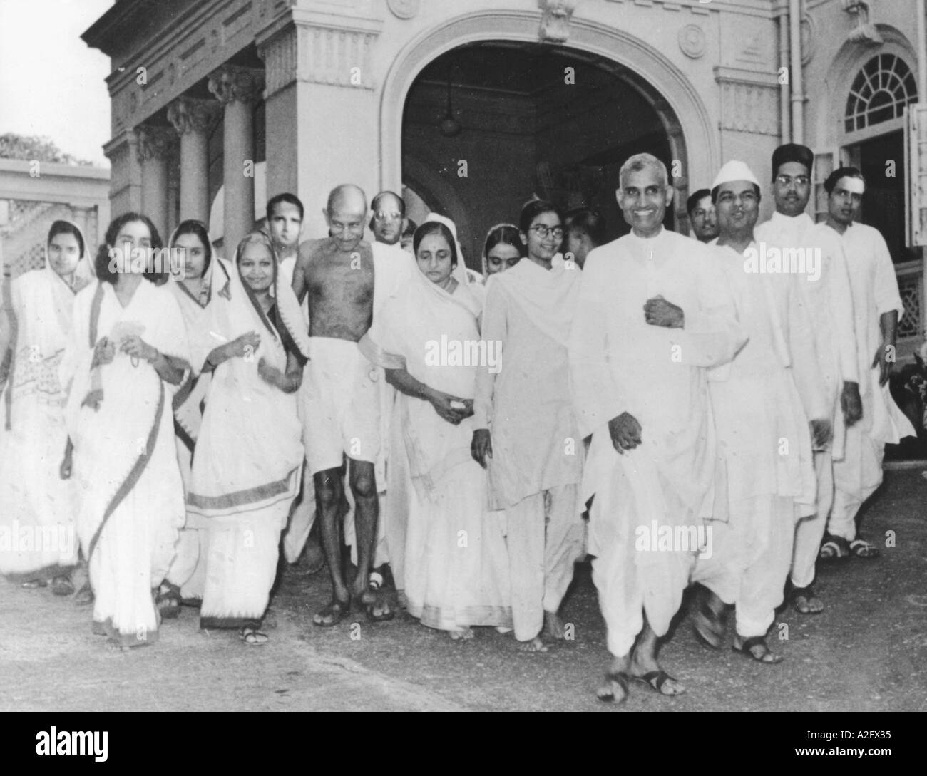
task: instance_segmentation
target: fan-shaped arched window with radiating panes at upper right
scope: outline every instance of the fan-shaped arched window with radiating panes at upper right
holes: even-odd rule
[[[850,87],[844,130],[863,130],[889,119],[900,119],[905,106],[917,98],[917,84],[904,60],[894,54],[873,56]]]

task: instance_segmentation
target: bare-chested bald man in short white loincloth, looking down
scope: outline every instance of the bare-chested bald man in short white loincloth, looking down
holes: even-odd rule
[[[331,627],[348,616],[351,601],[370,621],[394,616],[387,602],[368,589],[379,513],[375,467],[382,460],[382,370],[362,356],[357,343],[370,328],[376,297],[394,287],[396,276],[376,261],[362,239],[367,199],[359,187],[333,189],[324,217],[332,236],[300,245],[293,290],[300,304],[304,297],[309,302],[310,361],[300,389],[300,417],[332,577],[332,600],[312,621]],[[341,568],[339,523],[346,457],[358,569],[350,584]]]

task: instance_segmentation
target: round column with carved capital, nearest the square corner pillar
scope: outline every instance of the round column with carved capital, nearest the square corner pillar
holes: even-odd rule
[[[222,252],[232,258],[254,227],[254,102],[264,88],[262,70],[223,65],[210,75],[210,92],[222,114]],[[296,128],[291,128],[291,131]]]

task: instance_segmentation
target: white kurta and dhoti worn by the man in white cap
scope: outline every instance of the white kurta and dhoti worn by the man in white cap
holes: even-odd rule
[[[814,511],[811,438],[794,373],[799,363],[813,372],[815,353],[794,282],[745,271],[728,246],[713,250],[749,341],[708,373],[718,449],[716,508],[706,522],[713,552],[696,560],[692,580],[736,605],[737,632],[749,638],[767,632],[781,603],[795,517]],[[812,384],[810,406],[823,411]]]

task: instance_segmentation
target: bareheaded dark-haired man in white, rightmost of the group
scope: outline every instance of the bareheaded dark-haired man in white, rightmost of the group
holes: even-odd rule
[[[858,535],[854,519],[882,484],[885,443],[916,436],[888,392],[888,377],[895,365],[895,331],[904,307],[882,234],[854,220],[865,188],[862,173],[853,167],[835,169],[824,181],[828,219],[819,228],[841,235],[847,257],[863,412],[862,420],[846,431],[843,460],[833,465],[835,493],[828,535],[820,548],[822,558],[879,555],[874,544]]]

